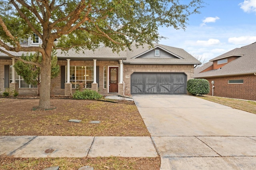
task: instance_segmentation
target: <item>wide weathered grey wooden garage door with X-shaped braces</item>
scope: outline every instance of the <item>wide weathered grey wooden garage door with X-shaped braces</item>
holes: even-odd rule
[[[131,94],[186,94],[184,73],[145,73],[131,75]]]

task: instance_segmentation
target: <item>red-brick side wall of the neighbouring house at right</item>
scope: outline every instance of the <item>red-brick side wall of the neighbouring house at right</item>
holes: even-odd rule
[[[212,96],[211,82],[214,80],[214,96],[256,101],[256,76],[254,76],[254,74],[206,79],[210,83],[210,93],[207,95]],[[244,83],[228,84],[228,80],[238,79],[243,79]]]

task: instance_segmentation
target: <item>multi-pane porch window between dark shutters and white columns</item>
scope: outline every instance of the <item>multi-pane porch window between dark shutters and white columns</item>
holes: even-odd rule
[[[72,88],[78,88],[81,83],[84,88],[92,88],[93,74],[93,66],[70,66]]]

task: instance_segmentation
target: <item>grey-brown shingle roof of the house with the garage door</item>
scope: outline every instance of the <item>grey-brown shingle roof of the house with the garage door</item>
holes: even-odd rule
[[[27,44],[24,44],[27,46]],[[99,47],[95,49],[95,51],[85,49],[84,52],[76,53],[74,50],[69,50],[67,54],[62,53],[60,50],[57,50],[57,57],[58,59],[75,59],[75,60],[85,60],[85,59],[111,59],[111,60],[118,60],[124,59],[124,63],[130,64],[201,64],[200,61],[195,59],[192,55],[187,53],[184,49],[170,47],[166,45],[154,44],[154,46],[161,47],[165,49],[179,58],[136,58],[132,59],[137,55],[144,53],[145,51],[154,50],[148,49],[148,46],[145,47],[136,47],[132,45],[132,51],[126,49],[125,51],[120,51],[119,53],[113,53],[112,49],[109,47]],[[10,52],[12,55],[21,56],[24,52]],[[3,53],[0,53],[0,56],[6,56]]]

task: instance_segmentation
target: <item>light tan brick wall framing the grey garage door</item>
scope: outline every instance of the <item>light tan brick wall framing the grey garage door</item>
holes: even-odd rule
[[[124,94],[130,95],[130,78],[133,72],[184,72],[187,79],[194,78],[193,65],[124,65]]]

